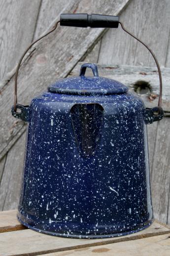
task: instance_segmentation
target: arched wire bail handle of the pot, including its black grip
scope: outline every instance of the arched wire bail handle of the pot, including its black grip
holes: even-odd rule
[[[127,29],[125,29],[123,23],[119,21],[118,16],[100,15],[100,14],[90,14],[89,15],[89,14],[84,14],[83,13],[83,14],[61,14],[60,15],[60,20],[55,23],[54,27],[49,32],[47,32],[46,34],[44,34],[43,36],[41,36],[40,38],[35,40],[33,43],[31,43],[29,45],[29,47],[25,50],[25,52],[23,53],[23,55],[21,56],[21,58],[18,62],[16,73],[15,73],[14,106],[13,106],[14,112],[17,113],[18,72],[19,72],[19,68],[20,68],[21,62],[22,62],[25,54],[34,45],[34,43],[38,42],[39,40],[43,39],[47,35],[51,34],[53,31],[55,31],[57,29],[59,23],[60,23],[61,26],[91,27],[91,28],[118,28],[118,25],[120,24],[122,29],[126,33],[128,33],[130,36],[135,38],[139,43],[143,44],[149,50],[149,52],[151,53],[151,55],[153,56],[153,58],[155,60],[155,63],[156,63],[157,68],[158,68],[159,81],[160,81],[160,93],[159,93],[157,111],[158,111],[158,114],[160,114],[163,111],[162,108],[161,108],[161,106],[162,106],[162,75],[161,75],[161,69],[160,69],[160,65],[158,63],[158,60],[157,60],[155,54],[153,53],[153,51],[150,49],[150,47],[146,43],[144,43],[140,39],[138,39],[134,34],[129,32]]]

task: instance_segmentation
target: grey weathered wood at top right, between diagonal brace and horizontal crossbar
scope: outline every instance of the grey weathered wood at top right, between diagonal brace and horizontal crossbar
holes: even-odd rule
[[[133,0],[120,15],[125,27],[150,45],[160,65],[170,67],[170,0]],[[170,56],[170,55],[169,55]],[[166,63],[166,60],[167,63]],[[99,62],[155,66],[148,50],[126,34],[121,26],[110,29],[102,38]]]

